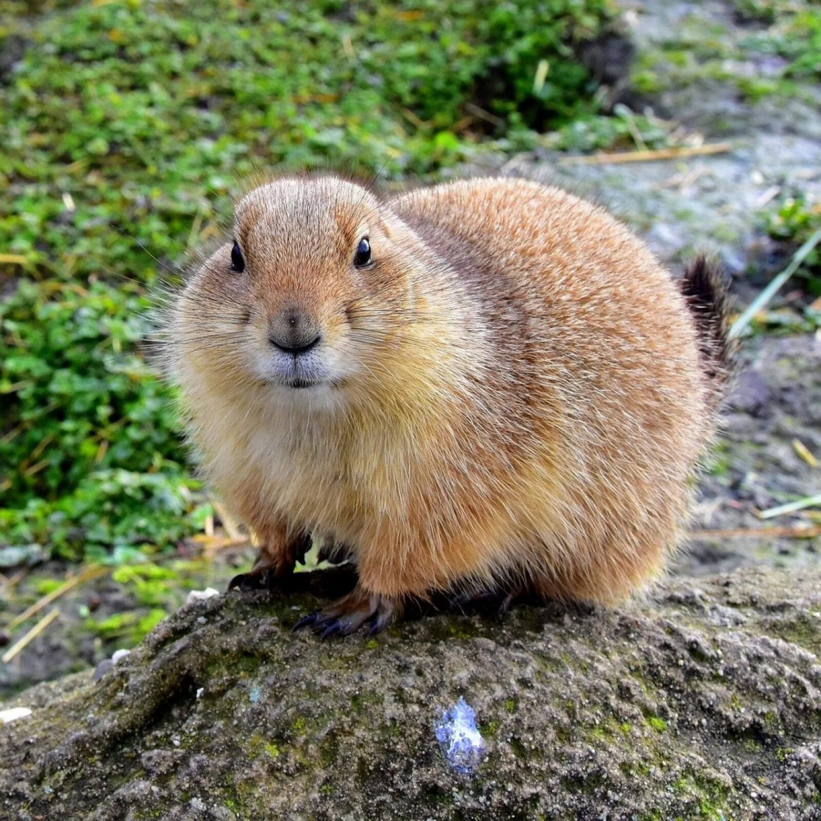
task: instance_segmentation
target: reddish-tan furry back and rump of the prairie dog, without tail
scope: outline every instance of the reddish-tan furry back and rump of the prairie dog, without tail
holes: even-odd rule
[[[550,592],[566,585],[606,599],[633,588],[674,547],[713,429],[695,323],[676,284],[603,209],[539,183],[461,181],[392,207],[481,306],[506,383],[488,392],[498,414],[537,406],[546,422],[521,430],[519,446],[547,437],[560,455],[565,529],[585,536],[566,548],[580,560],[573,578]],[[612,534],[621,544],[608,544]]]

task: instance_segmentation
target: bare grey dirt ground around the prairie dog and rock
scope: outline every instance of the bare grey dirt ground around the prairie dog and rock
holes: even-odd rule
[[[754,28],[737,19],[731,2],[645,0],[626,6],[631,10],[632,36],[644,53],[654,53],[671,33],[695,47],[699,37],[708,36],[732,44]],[[766,69],[743,57],[734,65],[740,75]],[[802,99],[748,103],[732,80],[688,77],[685,83],[674,67],[665,69],[663,62],[659,66],[666,88],[653,99],[631,104],[638,110],[652,105],[659,116],[675,117],[707,141],[729,140],[732,150],[681,162],[621,166],[566,164],[556,155],[534,152],[500,158],[497,167],[595,197],[640,232],[673,270],[680,270],[682,260],[695,250],[712,251],[732,274],[732,290],[743,305],[786,259],[785,250],[764,233],[762,204],[774,190],[789,192],[797,186],[821,192],[821,92],[808,87]],[[813,95],[819,104],[811,103]],[[805,301],[805,295],[788,286],[778,304],[791,310]],[[750,337],[739,360],[721,438],[699,484],[693,528],[749,531],[821,524],[811,513],[767,522],[756,516],[756,511],[821,493],[821,468],[802,458],[795,444],[821,460],[821,337],[784,331]],[[11,663],[0,665],[0,697],[34,681],[94,665],[112,650],[131,646],[152,618],[180,606],[188,589],[224,589],[251,557],[245,548],[213,561],[187,555],[169,559],[163,566],[172,567],[172,578],[157,601],[150,600],[144,587],[122,584],[111,576],[78,586],[58,600],[59,617],[48,631]],[[723,533],[690,539],[672,572],[700,576],[750,564],[819,562],[821,537]],[[0,599],[0,629],[39,599],[45,579],[62,578],[66,572],[56,563],[39,566],[11,593],[7,590]],[[111,621],[124,612],[130,614],[124,621]],[[19,635],[16,631],[14,638]]]

